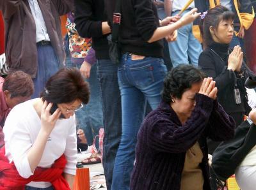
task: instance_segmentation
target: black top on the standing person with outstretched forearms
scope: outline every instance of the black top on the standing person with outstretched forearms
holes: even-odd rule
[[[122,52],[163,57],[163,41],[147,41],[159,27],[157,9],[152,0],[120,0],[122,20],[119,41]],[[108,23],[111,26],[116,0],[106,0]]]

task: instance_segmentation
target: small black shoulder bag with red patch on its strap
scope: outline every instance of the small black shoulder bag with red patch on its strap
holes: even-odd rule
[[[108,35],[108,44],[109,44],[109,58],[115,64],[120,63],[121,59],[121,47],[118,41],[119,27],[121,24],[121,1],[116,1],[115,11],[113,13],[113,25],[112,25],[112,34]]]

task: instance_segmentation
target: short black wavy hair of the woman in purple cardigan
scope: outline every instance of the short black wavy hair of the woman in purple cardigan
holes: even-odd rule
[[[189,64],[180,64],[172,68],[164,78],[161,94],[163,101],[170,103],[172,98],[180,99],[183,92],[190,89],[196,82],[201,82],[205,77],[205,73]]]

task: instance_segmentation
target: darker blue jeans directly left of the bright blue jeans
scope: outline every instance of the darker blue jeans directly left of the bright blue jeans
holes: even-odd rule
[[[99,59],[97,75],[102,97],[104,140],[103,168],[107,188],[111,189],[116,151],[122,133],[121,96],[117,81],[117,66],[109,59]]]

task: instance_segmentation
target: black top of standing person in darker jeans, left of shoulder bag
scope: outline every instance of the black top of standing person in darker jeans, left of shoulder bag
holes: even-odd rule
[[[109,59],[107,36],[102,34],[102,22],[107,21],[104,0],[74,0],[76,29],[83,38],[92,38],[97,59]]]

